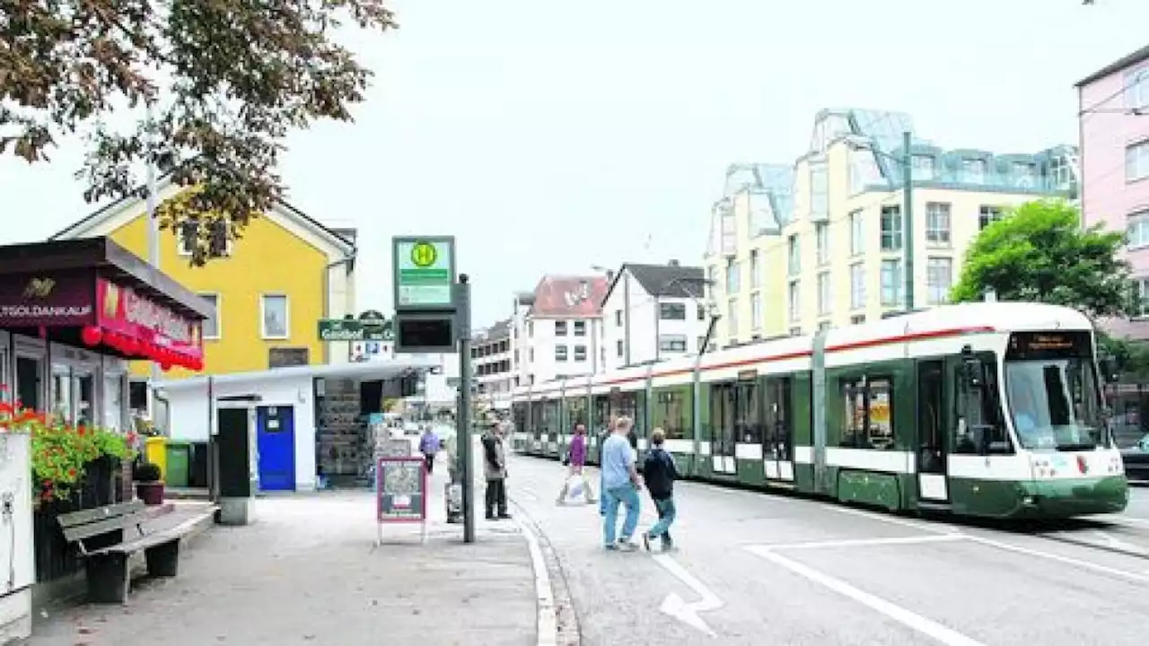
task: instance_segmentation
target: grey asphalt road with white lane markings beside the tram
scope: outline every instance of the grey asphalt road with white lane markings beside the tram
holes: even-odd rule
[[[557,462],[509,469],[584,644],[1146,643],[1149,490],[1121,516],[1003,529],[680,483],[664,556],[603,551],[597,506],[556,506]],[[640,526],[654,520],[643,499]]]

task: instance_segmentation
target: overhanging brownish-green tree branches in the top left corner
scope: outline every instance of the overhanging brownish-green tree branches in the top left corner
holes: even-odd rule
[[[221,223],[238,237],[283,198],[290,131],[352,120],[370,78],[337,43],[353,26],[395,23],[384,0],[0,0],[0,154],[40,162],[87,137],[90,202],[144,197],[140,162],[170,171],[194,189],[157,217],[199,223],[202,263]]]

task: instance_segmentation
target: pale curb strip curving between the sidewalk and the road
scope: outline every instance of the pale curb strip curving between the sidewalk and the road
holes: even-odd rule
[[[526,509],[510,495],[507,498],[517,509],[516,524],[526,538],[535,572],[539,608],[538,646],[579,646],[583,637],[562,562],[547,536]]]

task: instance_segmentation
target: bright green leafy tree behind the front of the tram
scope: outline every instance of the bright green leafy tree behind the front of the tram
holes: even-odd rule
[[[1081,228],[1081,214],[1061,200],[1021,205],[970,245],[954,302],[1001,300],[1077,308],[1092,317],[1127,316],[1138,307],[1129,266],[1118,257],[1125,234]]]

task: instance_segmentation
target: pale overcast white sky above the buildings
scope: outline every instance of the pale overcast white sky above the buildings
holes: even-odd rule
[[[699,263],[731,162],[791,163],[824,107],[910,113],[946,147],[1077,143],[1073,83],[1149,39],[1146,0],[401,0],[357,37],[354,124],[292,137],[288,201],[360,229],[358,302],[391,306],[393,234],[458,237],[475,323],[546,272]],[[3,241],[94,210],[0,161]],[[286,260],[285,260],[286,262]]]

